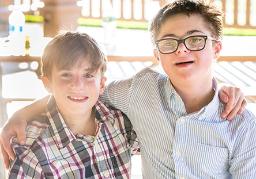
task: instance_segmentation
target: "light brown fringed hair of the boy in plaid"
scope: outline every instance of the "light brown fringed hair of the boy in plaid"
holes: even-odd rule
[[[100,70],[103,77],[107,70],[107,57],[96,40],[86,33],[62,30],[44,48],[41,73],[51,80],[52,67],[69,70],[84,60],[91,64],[90,72]]]

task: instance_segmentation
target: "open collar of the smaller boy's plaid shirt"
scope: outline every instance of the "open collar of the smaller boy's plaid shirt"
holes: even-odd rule
[[[114,124],[114,117],[106,104],[97,101],[95,109],[96,120],[99,121],[99,123],[111,121],[111,123]],[[52,126],[52,133],[56,136],[59,150],[65,148],[72,140],[77,140],[76,135],[69,130],[61,113],[59,113],[54,96],[51,96],[48,101],[46,114]]]

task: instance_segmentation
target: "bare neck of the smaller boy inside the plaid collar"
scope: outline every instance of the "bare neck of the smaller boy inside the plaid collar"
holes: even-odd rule
[[[62,113],[61,115],[73,134],[95,136],[96,121],[94,108],[85,115],[63,115]]]

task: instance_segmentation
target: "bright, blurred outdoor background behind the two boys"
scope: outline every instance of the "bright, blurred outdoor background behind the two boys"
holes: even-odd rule
[[[152,0],[0,0],[0,127],[47,92],[40,56],[59,28],[93,36],[108,56],[107,83],[144,67],[163,72],[152,53],[148,26],[161,6]],[[256,0],[216,0],[225,12],[223,51],[214,65],[219,82],[239,86],[256,113]],[[133,178],[141,178],[140,155]],[[6,171],[0,157],[0,178]]]

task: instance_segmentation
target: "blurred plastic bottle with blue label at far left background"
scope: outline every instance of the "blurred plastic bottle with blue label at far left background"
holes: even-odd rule
[[[18,6],[14,6],[9,16],[9,37],[11,55],[25,55],[25,37],[22,33],[25,16]]]

